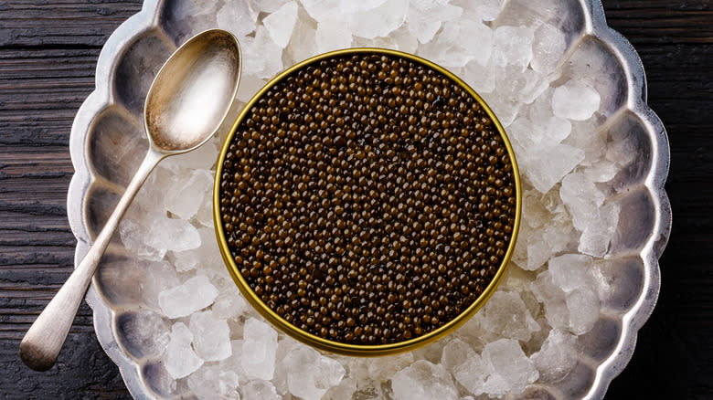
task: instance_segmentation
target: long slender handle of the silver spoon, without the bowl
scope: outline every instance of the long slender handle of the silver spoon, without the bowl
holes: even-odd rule
[[[126,191],[114,208],[112,215],[101,229],[86,256],[80,265],[74,269],[69,279],[62,285],[55,297],[49,301],[47,307],[35,323],[25,334],[20,342],[20,358],[23,363],[36,371],[47,371],[57,360],[74,316],[80,307],[81,300],[87,293],[91,277],[94,276],[101,256],[109,245],[119,221],[131,205],[133,197],[138,193],[146,177],[154,170],[154,166],[165,157],[153,147],[141,163],[132,181],[126,186]]]

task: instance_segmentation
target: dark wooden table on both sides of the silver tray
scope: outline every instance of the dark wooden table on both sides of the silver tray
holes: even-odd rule
[[[671,142],[674,228],[663,286],[608,399],[713,398],[713,2],[606,0],[644,60],[649,104]],[[138,0],[0,0],[0,398],[131,398],[83,304],[59,362],[25,367],[17,346],[69,276],[69,129],[94,88],[101,46]]]

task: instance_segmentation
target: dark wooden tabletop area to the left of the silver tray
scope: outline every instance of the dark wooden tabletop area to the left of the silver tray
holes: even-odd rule
[[[47,373],[17,347],[69,276],[69,131],[101,46],[140,1],[0,2],[0,398],[130,399],[83,303]]]

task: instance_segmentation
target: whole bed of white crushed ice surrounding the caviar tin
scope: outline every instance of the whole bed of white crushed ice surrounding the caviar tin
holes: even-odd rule
[[[607,255],[618,225],[620,206],[606,202],[606,182],[627,152],[600,129],[608,117],[609,93],[598,91],[605,80],[583,76],[591,72],[583,66],[600,68],[593,65],[599,58],[580,48],[574,61],[566,59],[571,21],[556,15],[561,5],[537,12],[504,0],[211,6],[182,0],[170,17],[239,38],[241,103],[282,68],[337,48],[396,48],[452,69],[509,134],[524,216],[504,283],[461,329],[412,353],[336,356],[277,332],[232,283],[210,214],[218,138],[174,157],[157,168],[120,226],[124,247],[145,259],[136,269],[148,271],[139,290],[152,310],[131,320],[127,334],[135,333],[133,347],[160,356],[178,380],[169,385],[199,399],[457,400],[527,394],[537,390],[528,385],[565,378],[578,363],[578,337],[600,318],[592,266]],[[180,32],[189,33],[196,32]]]

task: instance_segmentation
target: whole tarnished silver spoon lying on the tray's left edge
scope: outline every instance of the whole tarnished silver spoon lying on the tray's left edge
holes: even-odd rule
[[[46,371],[55,363],[91,277],[133,197],[157,163],[196,149],[218,130],[238,91],[241,67],[236,38],[211,29],[178,47],[159,70],[144,105],[149,151],[87,255],[20,342],[20,357],[28,367]]]

